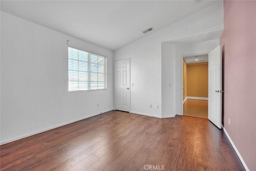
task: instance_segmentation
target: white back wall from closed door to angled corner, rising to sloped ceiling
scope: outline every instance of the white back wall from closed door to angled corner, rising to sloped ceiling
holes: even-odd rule
[[[131,87],[131,112],[148,115],[149,105],[152,104],[153,109],[150,109],[150,113],[158,117],[171,117],[175,115],[176,105],[170,105],[168,107],[169,113],[166,113],[168,111],[167,109],[162,108],[162,105],[168,103],[175,104],[176,100],[175,97],[172,99],[169,97],[166,98],[167,96],[162,97],[166,92],[174,96],[176,93],[175,77],[177,71],[175,68],[176,64],[174,63],[175,58],[172,58],[175,54],[175,50],[173,52],[163,50],[161,42],[208,32],[216,32],[222,29],[223,4],[222,1],[220,1],[116,50],[114,52],[114,60],[122,58],[131,59],[131,84],[134,84],[134,86]],[[168,45],[166,44],[166,46]],[[162,56],[161,52],[166,52],[167,54]],[[162,62],[165,61],[169,62],[171,65],[174,64],[174,68],[169,70],[167,66],[162,64]],[[142,66],[141,71],[140,66]],[[166,75],[172,74],[172,70],[174,76],[167,78]],[[174,87],[165,87],[166,83],[169,82],[172,83]],[[160,105],[160,109],[155,109],[156,105]]]

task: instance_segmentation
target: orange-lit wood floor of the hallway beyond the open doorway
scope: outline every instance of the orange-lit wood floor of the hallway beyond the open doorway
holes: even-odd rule
[[[183,104],[183,115],[208,119],[208,101],[187,99]]]

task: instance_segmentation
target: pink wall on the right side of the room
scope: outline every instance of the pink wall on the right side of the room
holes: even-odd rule
[[[248,168],[256,171],[256,1],[224,0],[220,44],[224,49],[224,128]]]

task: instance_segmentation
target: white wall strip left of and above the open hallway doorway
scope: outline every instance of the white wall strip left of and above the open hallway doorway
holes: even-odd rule
[[[182,98],[183,98],[183,56],[192,56],[199,54],[208,54],[211,50],[220,45],[219,39],[209,40],[205,42],[180,44],[176,43],[176,114],[182,114]]]

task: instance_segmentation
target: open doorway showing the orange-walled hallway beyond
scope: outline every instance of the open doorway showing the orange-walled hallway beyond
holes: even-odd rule
[[[183,58],[183,115],[208,119],[208,54]]]

